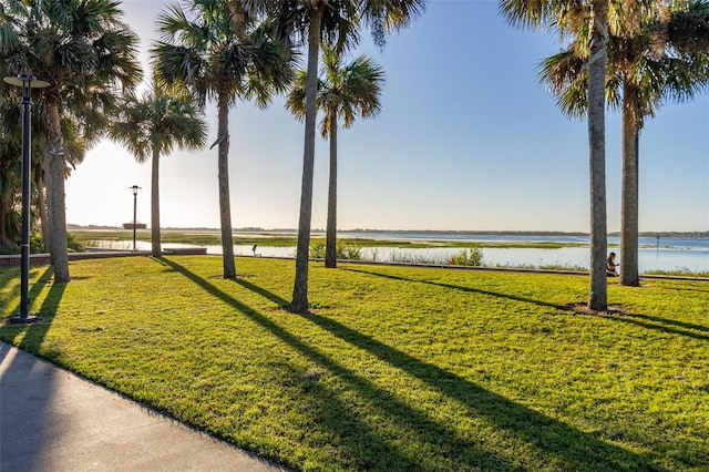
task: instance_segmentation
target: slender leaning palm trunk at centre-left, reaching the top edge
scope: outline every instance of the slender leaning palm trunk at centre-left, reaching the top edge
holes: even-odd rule
[[[306,85],[306,130],[302,153],[302,184],[300,191],[300,219],[298,222],[298,247],[296,249],[296,280],[290,309],[307,312],[308,261],[310,252],[310,223],[312,217],[312,177],[315,173],[315,126],[317,119],[316,94],[318,92],[318,53],[320,51],[320,23],[322,6],[315,8],[308,33],[308,83]]]

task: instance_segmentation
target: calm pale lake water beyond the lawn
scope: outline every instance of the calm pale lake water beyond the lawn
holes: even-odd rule
[[[588,245],[588,236],[543,236],[543,235],[463,235],[463,234],[417,234],[417,233],[339,233],[340,237],[360,237],[391,240],[391,246],[362,247],[362,257],[366,260],[377,261],[432,261],[444,264],[462,248],[400,248],[397,242],[402,240],[445,240],[455,242],[495,242],[495,243],[524,243],[524,242],[558,242]],[[623,263],[623,254],[619,254],[619,237],[608,238],[608,250],[618,253]],[[709,271],[709,239],[688,239],[662,237],[640,237],[638,252],[638,266],[640,273],[648,270],[688,269],[691,271]],[[185,245],[164,245],[164,247],[184,247]],[[251,256],[251,245],[235,245],[234,254]],[[138,249],[150,249],[150,243],[138,242]],[[589,264],[588,247],[562,247],[558,249],[537,248],[483,248],[483,263],[486,266],[562,266],[568,268],[587,268]],[[222,254],[222,246],[207,246],[208,254]],[[264,257],[294,257],[295,247],[273,247],[258,245],[257,254]]]

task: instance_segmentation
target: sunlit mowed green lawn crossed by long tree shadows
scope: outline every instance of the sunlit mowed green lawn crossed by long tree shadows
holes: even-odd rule
[[[215,256],[31,269],[3,341],[295,470],[709,468],[709,283]],[[19,306],[0,270],[0,307]]]

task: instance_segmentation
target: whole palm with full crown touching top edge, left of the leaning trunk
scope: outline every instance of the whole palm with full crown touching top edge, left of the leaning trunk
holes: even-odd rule
[[[189,91],[201,105],[216,99],[219,219],[224,278],[236,277],[229,199],[229,106],[256,99],[265,107],[292,78],[292,53],[275,39],[269,23],[244,16],[233,21],[227,0],[193,0],[168,7],[157,20],[152,52],[158,83]]]

